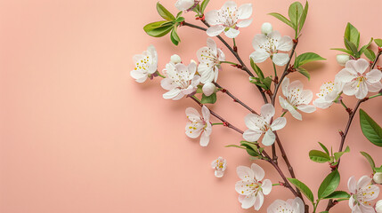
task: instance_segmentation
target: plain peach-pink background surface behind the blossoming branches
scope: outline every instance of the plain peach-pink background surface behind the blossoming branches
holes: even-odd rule
[[[223,4],[211,2],[207,11]],[[240,30],[237,39],[244,59],[253,51],[250,42],[264,21],[283,35],[293,35],[289,27],[266,15],[286,14],[292,1],[237,2],[254,6],[253,24]],[[176,12],[174,3],[162,1]],[[235,169],[250,165],[248,155],[224,147],[237,144],[240,135],[215,127],[210,145],[200,147],[198,139],[186,138],[183,131],[184,109],[196,105],[190,99],[162,99],[165,91],[158,79],[139,84],[129,76],[132,56],[150,44],[158,49],[161,69],[174,53],[186,62],[195,59],[195,52],[206,43],[205,33],[186,27],[179,29],[183,40],[179,47],[168,36],[146,36],[144,24],[159,20],[155,4],[156,0],[0,1],[0,212],[254,211],[240,209],[234,190]],[[376,22],[382,3],[312,0],[310,6],[297,52],[314,51],[328,60],[308,67],[311,82],[299,74],[290,77],[302,80],[315,93],[341,69],[337,51],[329,48],[343,46],[347,21],[361,31],[362,43],[382,35]],[[185,17],[197,23],[192,14]],[[269,61],[262,67],[272,73]],[[224,66],[219,83],[248,105],[262,105],[244,72]],[[354,102],[346,99],[349,106]],[[382,123],[381,104],[382,99],[374,99],[362,108]],[[224,94],[212,107],[245,129],[243,117],[248,112]],[[317,141],[337,150],[337,130],[345,127],[347,114],[336,105],[303,116],[304,122],[298,122],[288,114],[289,124],[279,134],[297,177],[316,193],[329,170],[326,164],[311,162],[308,151],[319,148]],[[382,164],[381,148],[363,137],[358,115],[346,145],[352,152],[345,154],[340,169],[344,190],[348,177],[370,175],[359,151],[369,152]],[[228,161],[221,179],[210,168],[218,156]],[[273,183],[280,180],[270,165],[258,163]],[[274,187],[261,212],[275,199],[291,197],[289,191]],[[325,205],[323,201],[321,209]],[[346,202],[333,209],[344,211],[349,212]]]

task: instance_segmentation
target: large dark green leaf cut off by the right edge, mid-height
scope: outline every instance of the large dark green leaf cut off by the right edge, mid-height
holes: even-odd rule
[[[374,145],[382,147],[381,127],[362,109],[360,109],[360,123],[363,135]]]

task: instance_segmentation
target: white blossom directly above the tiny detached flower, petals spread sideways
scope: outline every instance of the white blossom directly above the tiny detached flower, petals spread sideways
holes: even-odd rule
[[[201,114],[195,108],[186,108],[186,115],[190,122],[187,122],[185,131],[190,138],[198,138],[201,135],[200,146],[207,146],[212,132],[212,125],[209,122],[210,113],[207,106],[201,107]]]

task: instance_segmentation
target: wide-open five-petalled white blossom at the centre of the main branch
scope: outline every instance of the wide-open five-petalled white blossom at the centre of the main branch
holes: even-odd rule
[[[243,138],[250,142],[257,141],[264,133],[262,143],[264,146],[271,146],[276,138],[274,130],[280,130],[287,124],[287,119],[279,117],[272,123],[274,107],[272,104],[265,104],[261,107],[261,114],[248,114],[245,122],[249,130],[243,134]]]

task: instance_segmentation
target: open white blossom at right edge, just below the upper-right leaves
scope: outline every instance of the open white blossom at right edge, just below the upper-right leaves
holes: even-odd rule
[[[345,95],[353,96],[357,99],[364,99],[368,92],[380,91],[382,89],[382,73],[378,69],[373,69],[365,74],[369,68],[369,63],[365,59],[348,60],[345,68],[336,75],[338,81],[345,83]]]

